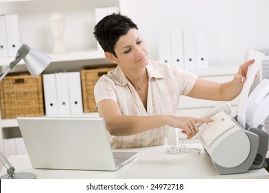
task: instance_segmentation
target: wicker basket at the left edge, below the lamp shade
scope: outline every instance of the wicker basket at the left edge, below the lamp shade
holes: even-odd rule
[[[44,115],[41,75],[9,74],[0,82],[0,92],[2,119]]]

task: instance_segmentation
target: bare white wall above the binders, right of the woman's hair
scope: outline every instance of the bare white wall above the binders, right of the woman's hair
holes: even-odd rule
[[[268,0],[127,0],[123,5],[152,59],[158,59],[159,30],[206,28],[210,65],[238,65],[248,49],[269,49]]]

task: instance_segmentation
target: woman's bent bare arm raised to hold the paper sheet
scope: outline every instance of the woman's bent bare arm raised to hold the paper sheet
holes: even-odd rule
[[[198,78],[188,96],[213,101],[231,101],[235,99],[243,88],[248,66],[252,65],[252,63],[254,63],[254,60],[247,61],[240,65],[234,79],[226,83],[215,83]]]

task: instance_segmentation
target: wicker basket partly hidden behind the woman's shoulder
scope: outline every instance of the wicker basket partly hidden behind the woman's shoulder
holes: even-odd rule
[[[116,65],[94,65],[81,69],[81,85],[83,94],[83,111],[96,112],[94,99],[94,85],[103,74],[114,70]]]

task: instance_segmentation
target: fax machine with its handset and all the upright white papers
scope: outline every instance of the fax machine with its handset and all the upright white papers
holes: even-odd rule
[[[249,94],[263,56],[259,51],[249,51],[248,59],[255,59],[255,62],[248,67],[237,116],[230,115],[230,103],[223,103],[203,115],[212,117],[214,122],[199,125],[201,144],[219,174],[268,167],[266,152],[269,134],[261,124],[269,116],[269,80],[263,79]]]

